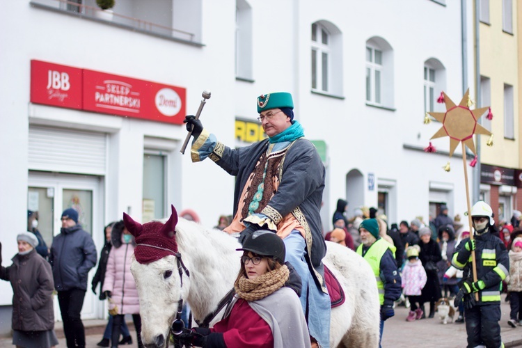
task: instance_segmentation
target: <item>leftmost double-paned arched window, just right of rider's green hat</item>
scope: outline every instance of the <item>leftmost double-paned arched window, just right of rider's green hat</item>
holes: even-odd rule
[[[342,35],[330,22],[312,24],[312,90],[342,95]]]

